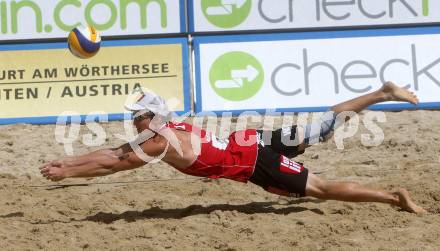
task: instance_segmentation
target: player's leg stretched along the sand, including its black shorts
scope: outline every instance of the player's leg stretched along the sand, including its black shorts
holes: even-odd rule
[[[411,200],[405,189],[390,193],[353,182],[325,181],[310,173],[301,163],[280,155],[268,146],[259,146],[254,173],[249,181],[268,192],[284,196],[311,196],[348,202],[381,202],[398,206],[409,212],[426,212]]]

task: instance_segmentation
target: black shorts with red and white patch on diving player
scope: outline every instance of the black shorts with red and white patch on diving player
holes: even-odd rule
[[[296,132],[296,127],[291,128],[291,132]],[[263,131],[258,133],[261,135]],[[286,141],[282,141],[281,137],[295,137],[295,133],[289,136],[285,129],[280,129],[272,132],[271,142],[262,140],[258,145],[255,170],[249,181],[271,193],[304,197],[309,171],[303,164],[290,159],[304,152],[298,151],[297,146],[284,145],[282,142]]]

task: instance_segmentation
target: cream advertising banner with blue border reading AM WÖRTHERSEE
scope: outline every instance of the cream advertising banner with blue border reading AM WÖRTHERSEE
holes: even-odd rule
[[[188,41],[104,42],[88,60],[65,44],[0,46],[0,124],[55,123],[58,115],[122,119],[127,97],[146,88],[190,111]]]

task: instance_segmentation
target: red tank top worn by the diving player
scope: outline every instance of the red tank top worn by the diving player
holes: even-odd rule
[[[240,182],[247,182],[252,176],[258,154],[256,130],[236,131],[228,139],[219,140],[213,133],[187,123],[168,123],[167,127],[194,133],[202,140],[196,161],[190,167],[178,169],[182,173]]]

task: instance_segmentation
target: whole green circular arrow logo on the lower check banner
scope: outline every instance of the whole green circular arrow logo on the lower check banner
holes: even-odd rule
[[[240,51],[228,52],[212,64],[209,81],[220,97],[243,101],[252,98],[261,89],[264,70],[254,56]]]

